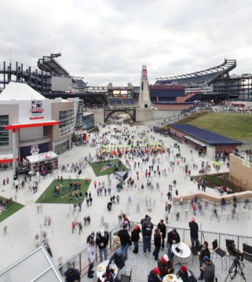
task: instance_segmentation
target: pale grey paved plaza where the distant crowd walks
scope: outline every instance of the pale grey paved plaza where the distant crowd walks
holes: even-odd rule
[[[124,183],[124,189],[121,192],[117,192],[116,185],[118,183],[117,179],[113,176],[111,179],[111,195],[117,196],[119,194],[120,200],[119,204],[112,205],[112,210],[108,212],[107,204],[110,201],[110,196],[104,195],[102,193],[101,196],[97,196],[96,190],[94,188],[94,180],[97,183],[104,182],[105,187],[108,189],[108,176],[95,176],[92,171],[92,167],[87,165],[84,169],[82,169],[82,173],[78,176],[77,172],[62,172],[61,169],[53,172],[52,176],[47,176],[45,179],[40,179],[39,189],[37,193],[33,194],[31,190],[28,188],[28,183],[24,189],[18,190],[15,192],[15,189],[12,188],[12,181],[8,185],[3,186],[3,178],[7,176],[9,179],[12,179],[12,170],[6,170],[0,172],[0,183],[1,183],[1,196],[15,199],[17,198],[17,202],[20,204],[24,204],[24,208],[19,210],[14,215],[8,217],[3,222],[0,222],[0,249],[1,249],[1,258],[0,258],[0,270],[8,267],[8,265],[14,263],[22,256],[25,256],[33,249],[38,243],[42,241],[42,234],[47,233],[47,238],[49,240],[49,245],[51,247],[51,251],[53,252],[53,260],[56,265],[59,263],[65,263],[67,260],[75,256],[80,251],[85,249],[86,247],[86,238],[92,231],[99,231],[101,228],[105,228],[108,231],[110,229],[114,229],[115,226],[118,225],[118,216],[121,215],[122,212],[125,212],[128,215],[128,218],[131,222],[140,222],[140,219],[144,217],[144,215],[149,214],[151,216],[151,222],[153,224],[158,224],[161,218],[165,217],[165,202],[167,201],[167,192],[169,184],[172,184],[174,179],[176,179],[176,188],[173,188],[173,195],[175,195],[175,190],[178,189],[178,196],[182,196],[185,194],[193,194],[197,192],[197,185],[194,181],[190,181],[190,177],[185,176],[185,165],[189,165],[190,170],[192,171],[192,176],[197,175],[199,168],[201,167],[202,161],[209,162],[212,164],[212,160],[208,160],[206,157],[199,158],[198,152],[192,147],[189,147],[186,144],[180,144],[180,154],[185,158],[185,163],[180,162],[179,165],[176,163],[176,154],[178,154],[178,148],[174,147],[175,141],[169,137],[162,137],[153,132],[148,132],[150,130],[150,124],[148,125],[140,125],[140,126],[106,126],[105,128],[99,128],[100,133],[91,133],[89,137],[89,141],[92,142],[92,139],[98,142],[101,141],[102,133],[110,131],[113,135],[115,135],[113,128],[126,128],[129,131],[131,136],[135,136],[135,140],[142,139],[140,138],[140,133],[145,133],[144,138],[148,138],[149,142],[159,142],[162,140],[165,147],[169,147],[171,150],[170,156],[168,156],[167,152],[165,154],[158,154],[156,163],[154,167],[159,165],[160,171],[163,169],[167,169],[167,176],[161,173],[160,177],[158,174],[156,176],[151,176],[149,181],[153,184],[153,189],[149,189],[146,187],[146,177],[145,171],[148,169],[149,165],[151,165],[152,157],[149,158],[149,163],[142,164],[142,159],[135,158],[134,160],[131,158],[129,163],[131,165],[129,176],[131,176],[135,185],[133,188],[128,187],[127,183]],[[111,138],[110,135],[107,135],[106,138],[110,140],[110,144],[127,144],[125,140],[117,140],[116,138]],[[153,138],[153,139],[151,139]],[[69,166],[72,163],[78,163],[79,161],[85,163],[85,157],[92,158],[95,160],[96,154],[96,146],[91,147],[76,147],[74,146],[71,151],[67,151],[64,154],[59,156],[59,166],[62,165]],[[128,157],[127,157],[128,159]],[[159,160],[158,160],[159,159]],[[122,156],[121,161],[126,165],[126,156]],[[140,162],[140,168],[134,169],[134,163]],[[170,168],[170,162],[174,162],[174,171]],[[198,169],[193,168],[194,165],[198,165]],[[220,172],[228,172],[228,168],[224,163],[221,163]],[[128,167],[128,165],[126,165]],[[136,172],[139,172],[140,179],[137,181]],[[215,173],[215,169],[211,165],[210,173]],[[62,176],[63,179],[70,178],[76,179],[92,179],[90,188],[88,192],[92,194],[92,206],[87,207],[85,200],[83,201],[81,211],[76,208],[74,211],[74,207],[71,204],[35,204],[35,201],[40,197],[40,195],[44,192],[44,190],[48,187],[48,185],[53,181],[53,179],[57,179],[58,176]],[[156,183],[159,184],[159,189],[157,188]],[[141,185],[144,185],[144,191],[141,190]],[[206,193],[215,194],[219,196],[219,192],[212,188],[206,188]],[[172,203],[171,203],[172,204]],[[173,204],[172,204],[173,205]],[[140,208],[140,212],[137,211],[137,206]],[[251,235],[251,224],[248,217],[241,217],[239,221],[233,219],[222,220],[217,222],[217,220],[210,221],[210,217],[212,215],[210,206],[208,210],[205,210],[203,215],[200,215],[198,212],[196,213],[196,222],[199,224],[201,230],[204,231],[215,231],[219,233],[232,233],[237,235]],[[172,206],[171,213],[176,213],[175,206]],[[219,210],[219,213],[221,211]],[[249,211],[249,213],[251,213]],[[83,226],[83,232],[79,235],[78,228],[74,233],[72,233],[72,222],[82,222],[85,216],[89,215],[91,219],[90,226]],[[169,224],[167,226],[176,226],[188,228],[188,222],[192,217],[192,213],[189,211],[187,218],[181,217],[178,221],[176,217],[169,216]],[[51,217],[50,226],[48,223],[44,225],[45,217]],[[105,223],[105,224],[103,224]],[[3,236],[3,228],[7,226],[7,234]],[[39,235],[38,239],[35,240],[35,235]],[[129,261],[131,261],[131,256],[129,255]],[[136,258],[132,258],[132,260]],[[148,265],[148,267],[153,267],[156,263],[153,258],[148,258],[149,263],[145,264],[144,258],[142,256],[142,249],[140,248],[140,254],[137,260],[140,260],[142,265]],[[152,263],[153,260],[153,263]],[[196,260],[196,258],[194,259]],[[133,261],[133,265],[134,265]],[[198,265],[198,262],[196,263]],[[144,267],[145,268],[145,267]],[[151,269],[144,270],[144,275]],[[142,270],[141,270],[142,271]],[[196,274],[199,274],[196,272]],[[146,276],[145,276],[146,278]],[[146,281],[139,280],[139,281]]]

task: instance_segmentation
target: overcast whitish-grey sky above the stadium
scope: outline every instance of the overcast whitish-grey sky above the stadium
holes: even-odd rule
[[[0,64],[61,52],[88,85],[140,83],[236,59],[251,73],[251,0],[0,0]]]

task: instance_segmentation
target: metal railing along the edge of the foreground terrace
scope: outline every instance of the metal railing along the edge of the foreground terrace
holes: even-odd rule
[[[137,223],[140,224],[140,223]],[[153,230],[157,227],[157,225],[154,225]],[[169,226],[167,228],[167,233],[171,231],[173,228],[176,228],[178,234],[180,235],[180,241],[185,242],[189,246],[191,246],[191,240],[190,240],[190,229],[182,228],[182,227],[176,227],[176,226]],[[112,253],[112,251],[115,250],[116,245],[113,241],[113,234],[117,232],[120,229],[120,226],[116,226],[112,231],[109,232],[109,242],[108,242],[108,255]],[[199,241],[207,241],[209,243],[209,249],[212,249],[212,242],[217,239],[218,245],[221,247],[221,249],[226,249],[226,240],[234,240],[235,245],[237,249],[242,250],[243,243],[252,245],[252,237],[244,236],[244,235],[236,235],[236,234],[228,234],[228,233],[218,233],[218,232],[210,232],[210,231],[203,231],[199,230]],[[142,242],[142,238],[140,238],[140,242]],[[153,244],[153,238],[151,243]],[[96,252],[96,258],[94,260],[94,264],[99,263],[99,252]],[[88,260],[87,260],[87,249],[83,249],[79,254],[76,254],[76,256],[72,257],[71,259],[67,260],[66,263],[62,265],[58,265],[58,269],[61,274],[64,274],[64,272],[69,267],[76,267],[80,270],[82,276],[87,272],[87,268],[89,266]]]

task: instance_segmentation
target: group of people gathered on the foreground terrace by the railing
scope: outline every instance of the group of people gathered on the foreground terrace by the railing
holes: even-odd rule
[[[156,260],[157,265],[154,267],[148,275],[148,282],[160,282],[168,274],[176,274],[176,276],[182,279],[183,282],[194,282],[196,277],[192,270],[188,269],[185,265],[180,265],[180,268],[175,273],[174,267],[174,252],[171,250],[172,244],[180,242],[180,235],[176,229],[172,229],[167,233],[167,226],[164,223],[164,219],[160,219],[157,227],[154,229],[154,225],[151,222],[151,217],[145,215],[141,220],[139,226],[136,223],[131,223],[125,213],[121,215],[121,229],[114,234],[114,242],[117,244],[117,249],[112,252],[108,260],[108,244],[109,233],[101,229],[95,235],[92,232],[87,238],[87,259],[90,263],[87,277],[94,278],[94,260],[96,259],[96,250],[99,251],[100,262],[106,261],[106,269],[99,282],[112,282],[119,281],[118,274],[122,268],[124,268],[128,256],[128,248],[133,244],[133,256],[140,251],[140,238],[142,238],[142,252],[144,256],[146,253],[152,254],[153,259]],[[189,222],[190,238],[191,238],[191,251],[193,256],[199,257],[199,277],[198,280],[204,280],[205,282],[215,281],[215,264],[210,260],[210,250],[208,249],[208,242],[204,241],[201,245],[199,242],[199,226],[196,223],[196,219],[193,217]],[[142,236],[141,236],[142,235]],[[154,246],[151,246],[151,238],[153,236]],[[167,240],[166,240],[167,238]],[[160,249],[165,249],[167,246],[167,254],[159,256]],[[117,272],[112,268],[112,264],[117,266]]]

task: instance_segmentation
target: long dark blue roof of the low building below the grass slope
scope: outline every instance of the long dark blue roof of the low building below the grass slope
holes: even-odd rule
[[[192,137],[201,140],[205,143],[208,143],[212,146],[217,145],[241,145],[242,142],[227,138],[225,136],[219,135],[217,133],[213,133],[211,131],[206,131],[205,129],[192,126],[190,124],[169,124],[171,128],[177,129],[178,131],[182,131]]]

